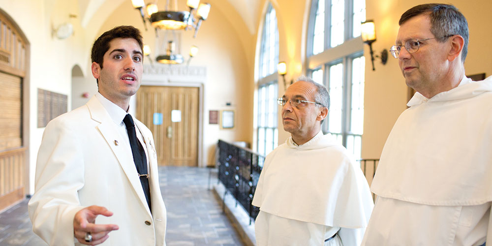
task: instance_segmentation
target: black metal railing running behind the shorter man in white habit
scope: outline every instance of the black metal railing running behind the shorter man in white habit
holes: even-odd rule
[[[251,202],[265,156],[222,140],[218,141],[217,147],[218,181],[225,186],[222,206],[224,206],[225,196],[229,192],[236,199],[236,206],[240,204],[249,215],[249,224],[251,224],[251,221],[255,220],[260,212],[258,207],[251,205]],[[359,161],[366,179],[372,181],[379,159],[361,159]],[[369,170],[368,167],[372,167],[372,170]],[[372,194],[372,198],[374,199],[374,194]]]

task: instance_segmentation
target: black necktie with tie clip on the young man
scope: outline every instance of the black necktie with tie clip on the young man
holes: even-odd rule
[[[144,189],[145,199],[149,205],[149,210],[152,212],[149,173],[147,172],[147,157],[145,156],[144,147],[142,147],[142,144],[140,144],[140,141],[137,139],[135,124],[129,114],[124,117],[123,123],[126,126],[128,138],[130,139],[131,154],[133,155],[133,161],[135,162],[135,167],[140,176],[140,184],[142,184],[142,188]]]

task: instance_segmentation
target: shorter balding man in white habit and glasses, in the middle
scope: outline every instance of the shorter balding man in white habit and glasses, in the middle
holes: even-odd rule
[[[359,163],[321,131],[326,87],[302,76],[278,104],[291,137],[267,155],[254,193],[257,246],[359,246],[372,197]]]

